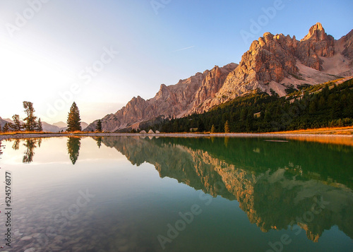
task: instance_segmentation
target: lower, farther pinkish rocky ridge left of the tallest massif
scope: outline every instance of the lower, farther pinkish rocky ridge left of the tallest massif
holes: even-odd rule
[[[155,97],[144,100],[140,96],[133,99],[115,114],[109,114],[102,119],[104,131],[118,131],[131,127],[138,128],[142,121],[148,121],[157,116],[181,117],[189,114],[194,107],[215,96],[230,71],[237,64],[231,63],[223,67],[215,66],[210,71],[196,73],[185,80],[179,80],[176,85],[160,85]],[[95,130],[94,121],[86,131]]]

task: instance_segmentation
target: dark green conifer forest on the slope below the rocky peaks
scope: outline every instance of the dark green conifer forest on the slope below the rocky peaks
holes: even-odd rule
[[[303,86],[287,97],[254,93],[209,112],[145,125],[161,132],[270,132],[353,124],[353,80],[340,85]],[[226,127],[225,127],[226,126]]]

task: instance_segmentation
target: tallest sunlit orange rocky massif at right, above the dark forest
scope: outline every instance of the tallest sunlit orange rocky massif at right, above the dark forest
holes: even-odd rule
[[[239,66],[227,76],[220,91],[214,98],[206,100],[197,112],[206,112],[210,107],[254,90],[270,93],[272,89],[282,96],[285,95],[285,85],[314,85],[347,76],[349,68],[352,70],[352,64],[349,66],[353,59],[352,53],[349,53],[352,52],[352,35],[341,40],[344,42],[335,41],[327,35],[320,23],[313,25],[309,34],[300,41],[295,36],[266,32],[253,41]],[[341,49],[338,48],[339,44],[342,44]],[[344,62],[348,65],[345,70],[336,67]]]

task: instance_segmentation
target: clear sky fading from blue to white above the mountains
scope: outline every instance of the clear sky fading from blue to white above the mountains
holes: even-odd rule
[[[114,113],[160,84],[239,63],[264,32],[303,38],[323,24],[339,39],[353,28],[353,1],[1,0],[0,116],[82,121]]]

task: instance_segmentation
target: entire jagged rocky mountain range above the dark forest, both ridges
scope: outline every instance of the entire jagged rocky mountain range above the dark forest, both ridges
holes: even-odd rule
[[[353,30],[340,40],[327,35],[320,23],[302,40],[266,32],[252,42],[239,63],[215,66],[176,85],[162,84],[150,100],[134,97],[126,107],[102,119],[104,131],[138,128],[157,116],[203,113],[250,92],[286,95],[286,85],[315,85],[353,75]],[[95,129],[97,121],[87,131]]]

